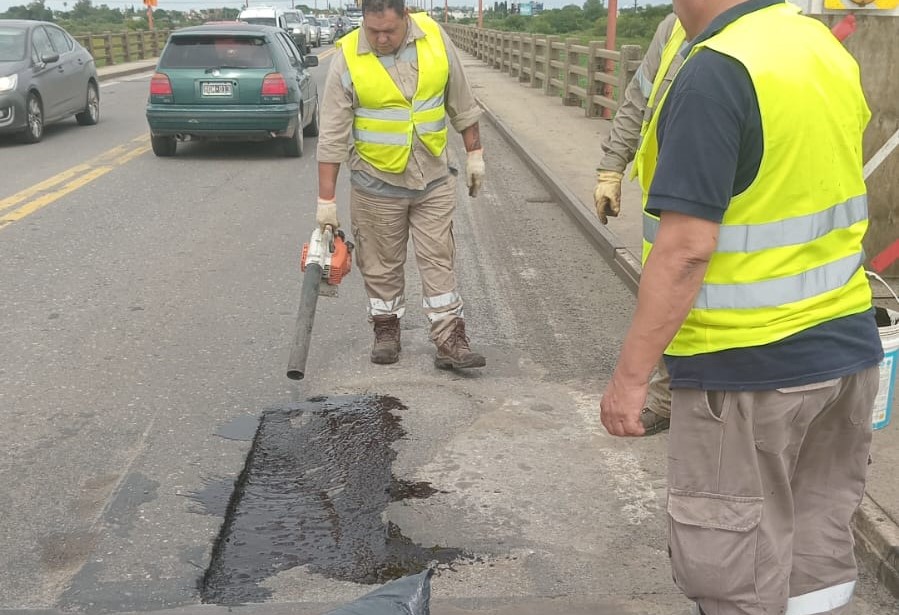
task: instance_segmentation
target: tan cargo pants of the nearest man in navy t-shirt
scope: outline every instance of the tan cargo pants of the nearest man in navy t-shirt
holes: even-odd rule
[[[672,391],[675,583],[705,615],[846,613],[876,367],[754,392]]]

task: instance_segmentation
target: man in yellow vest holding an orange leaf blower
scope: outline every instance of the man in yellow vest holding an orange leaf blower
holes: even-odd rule
[[[461,58],[437,22],[424,13],[407,14],[403,0],[363,0],[361,8],[362,27],[338,42],[321,103],[316,221],[339,226],[337,175],[348,164],[356,262],[374,327],[373,363],[399,358],[411,233],[435,365],[483,367],[486,359],[469,345],[456,287],[456,181],[446,152],[452,124],[462,134],[468,193],[475,196],[484,180],[481,110]]]

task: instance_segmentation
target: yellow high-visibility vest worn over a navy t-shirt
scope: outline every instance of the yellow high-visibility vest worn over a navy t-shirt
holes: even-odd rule
[[[702,288],[666,354],[761,346],[870,309],[862,133],[871,114],[855,60],[826,26],[787,3],[740,17],[696,45],[685,64],[703,47],[746,68],[764,150],[755,181],[728,205]],[[644,208],[669,93],[637,154]],[[644,262],[657,226],[644,216]]]

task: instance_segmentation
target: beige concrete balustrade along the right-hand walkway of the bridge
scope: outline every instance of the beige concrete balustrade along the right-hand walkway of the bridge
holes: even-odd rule
[[[611,117],[640,66],[639,45],[605,49],[545,34],[525,34],[443,24],[453,43],[522,84],[560,96],[562,104],[583,107],[587,117]]]

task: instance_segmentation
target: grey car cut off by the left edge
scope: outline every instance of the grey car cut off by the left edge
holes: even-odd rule
[[[100,88],[91,54],[59,26],[0,19],[0,134],[37,143],[44,126],[75,116],[100,120]]]

